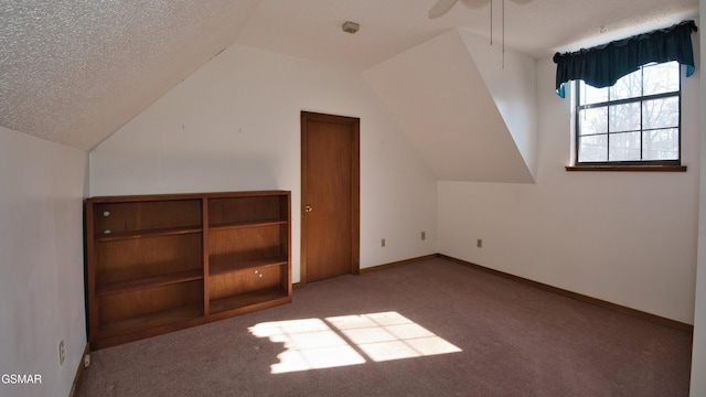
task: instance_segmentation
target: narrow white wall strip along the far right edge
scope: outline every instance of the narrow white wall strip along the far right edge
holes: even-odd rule
[[[699,4],[699,22],[698,26],[706,24],[706,0],[700,0]],[[698,57],[697,57],[698,60]],[[706,62],[706,40],[700,41],[700,62]],[[699,216],[698,216],[698,261],[696,271],[696,303],[694,312],[694,347],[692,350],[692,387],[691,396],[706,396],[706,81],[702,79],[700,85],[700,154],[702,154],[702,175],[700,175],[700,197],[699,197]]]

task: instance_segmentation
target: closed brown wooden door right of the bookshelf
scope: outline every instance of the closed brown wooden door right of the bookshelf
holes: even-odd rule
[[[359,272],[357,118],[301,114],[301,283]]]

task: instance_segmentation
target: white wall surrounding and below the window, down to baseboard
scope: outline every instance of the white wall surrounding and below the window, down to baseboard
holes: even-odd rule
[[[439,251],[693,323],[699,73],[683,81],[686,173],[565,171],[570,101],[554,93],[555,73],[538,61],[536,184],[439,182]]]

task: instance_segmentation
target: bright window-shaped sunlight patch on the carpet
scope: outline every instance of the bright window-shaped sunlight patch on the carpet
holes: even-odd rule
[[[249,331],[286,348],[272,374],[461,352],[397,312],[272,321]]]

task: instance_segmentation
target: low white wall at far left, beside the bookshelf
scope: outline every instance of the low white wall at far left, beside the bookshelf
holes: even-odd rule
[[[82,362],[87,171],[87,153],[0,127],[0,374],[42,380],[2,396],[65,397]]]

